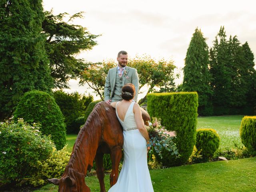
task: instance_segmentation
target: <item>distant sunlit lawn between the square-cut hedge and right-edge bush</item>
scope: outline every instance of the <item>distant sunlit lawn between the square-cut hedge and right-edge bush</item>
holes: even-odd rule
[[[197,128],[212,128],[220,136],[220,149],[242,146],[239,135],[242,115],[198,117]]]

